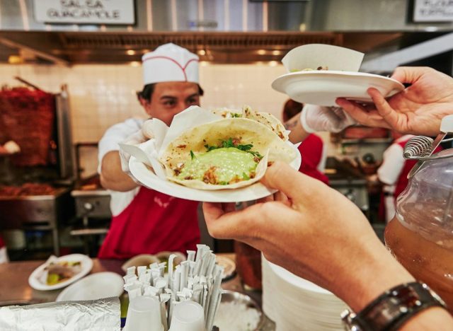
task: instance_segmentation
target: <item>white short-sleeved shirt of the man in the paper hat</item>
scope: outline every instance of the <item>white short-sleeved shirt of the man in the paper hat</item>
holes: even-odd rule
[[[102,159],[110,151],[119,151],[120,146],[118,143],[125,141],[127,137],[135,132],[142,129],[144,120],[137,118],[130,118],[113,125],[105,131],[105,134],[99,141],[98,145],[98,173],[101,173],[101,163]],[[134,197],[139,192],[140,187],[136,187],[133,190],[127,192],[117,192],[109,190],[111,200],[110,200],[110,210],[112,211],[113,216],[120,214],[134,199]]]

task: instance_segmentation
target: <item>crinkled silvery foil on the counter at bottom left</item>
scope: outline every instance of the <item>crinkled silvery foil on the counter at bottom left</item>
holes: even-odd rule
[[[41,303],[0,308],[1,331],[119,331],[120,300]]]

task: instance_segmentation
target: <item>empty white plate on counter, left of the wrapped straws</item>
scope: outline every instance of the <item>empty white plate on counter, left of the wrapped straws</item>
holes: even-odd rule
[[[57,296],[56,301],[97,300],[120,296],[124,280],[115,272],[97,272],[68,286]]]

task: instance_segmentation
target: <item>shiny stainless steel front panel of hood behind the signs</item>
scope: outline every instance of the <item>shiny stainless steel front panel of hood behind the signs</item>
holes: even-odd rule
[[[62,2],[79,6],[88,1]],[[242,33],[453,30],[453,22],[414,23],[412,0],[135,0],[134,4],[134,25],[55,25],[35,20],[33,0],[0,0],[0,29]]]

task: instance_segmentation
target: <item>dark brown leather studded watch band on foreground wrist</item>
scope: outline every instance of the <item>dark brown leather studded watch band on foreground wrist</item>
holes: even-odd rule
[[[421,310],[433,306],[445,308],[445,302],[428,285],[414,281],[385,291],[360,313],[345,310],[341,319],[345,330],[394,331]]]

